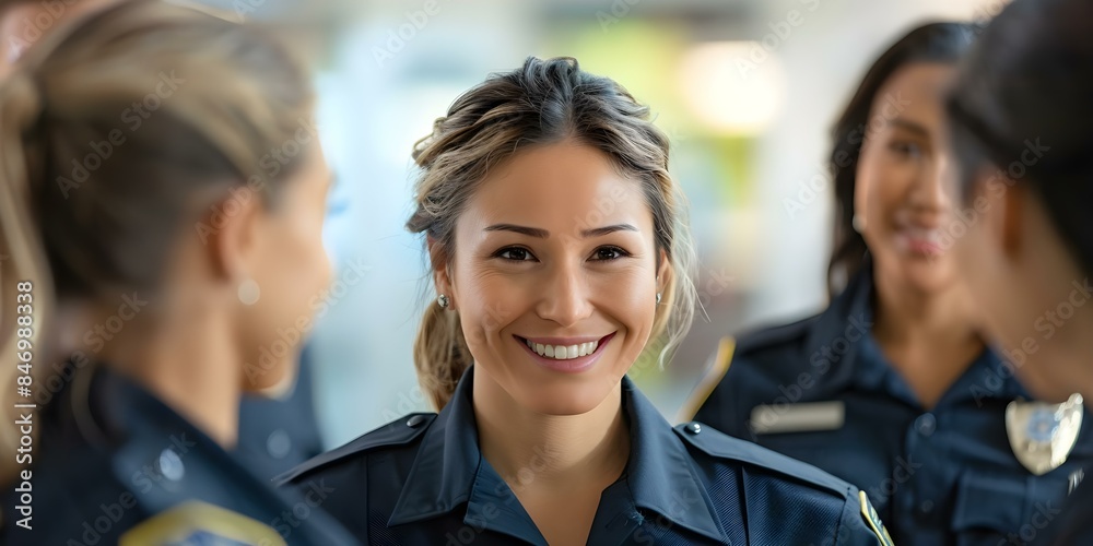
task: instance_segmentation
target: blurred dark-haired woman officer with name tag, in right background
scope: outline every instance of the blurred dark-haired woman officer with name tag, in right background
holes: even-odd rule
[[[965,216],[942,191],[942,90],[972,34],[928,24],[873,63],[830,159],[831,306],[727,340],[694,417],[860,487],[904,545],[1004,542],[1093,458],[1080,399],[1037,402],[1013,378],[947,252]],[[1045,441],[1050,456],[1030,448]]]

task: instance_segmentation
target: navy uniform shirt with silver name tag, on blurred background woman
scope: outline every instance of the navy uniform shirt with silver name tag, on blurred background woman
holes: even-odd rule
[[[866,266],[823,313],[742,337],[695,419],[860,487],[896,544],[1023,544],[1093,460],[1088,412],[1034,475],[1008,438],[1007,405],[1031,399],[1011,368],[987,351],[926,411],[871,334],[872,292]]]

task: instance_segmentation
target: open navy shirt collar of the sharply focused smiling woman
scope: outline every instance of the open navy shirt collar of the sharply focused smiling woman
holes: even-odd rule
[[[388,525],[437,518],[466,502],[463,523],[545,544],[512,489],[479,450],[472,407],[473,373],[472,366],[425,432]],[[624,476],[603,491],[600,505],[606,510],[598,511],[589,538],[632,532],[642,519],[636,509],[642,508],[724,541],[686,447],[630,378],[622,381],[631,456]],[[679,499],[702,501],[681,506]]]

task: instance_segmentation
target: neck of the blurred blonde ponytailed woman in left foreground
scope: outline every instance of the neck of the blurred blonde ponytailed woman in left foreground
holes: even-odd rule
[[[126,324],[98,357],[140,383],[225,450],[238,440],[242,383],[226,321],[203,317]]]

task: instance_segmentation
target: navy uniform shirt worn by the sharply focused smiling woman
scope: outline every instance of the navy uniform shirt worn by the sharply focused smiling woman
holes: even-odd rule
[[[473,372],[439,415],[380,427],[282,483],[327,484],[324,508],[365,544],[545,545],[479,450]],[[854,486],[698,424],[672,429],[628,378],[622,391],[632,451],[588,544],[881,544]]]

